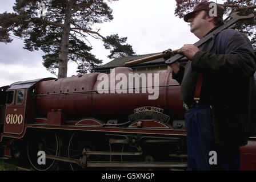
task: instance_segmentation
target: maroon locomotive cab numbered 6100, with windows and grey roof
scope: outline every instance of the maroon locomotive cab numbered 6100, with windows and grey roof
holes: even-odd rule
[[[23,133],[25,123],[31,122],[35,114],[35,87],[39,81],[48,79],[19,81],[5,89],[2,88],[1,133],[14,135]]]

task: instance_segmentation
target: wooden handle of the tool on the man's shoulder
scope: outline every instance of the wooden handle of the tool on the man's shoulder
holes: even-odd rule
[[[173,52],[174,54],[177,54],[178,51],[179,51],[179,49],[175,49],[171,52]],[[153,56],[149,56],[149,57],[143,57],[141,59],[129,61],[129,62],[125,63],[125,65],[126,65],[126,67],[131,67],[131,66],[136,65],[136,64],[145,63],[147,61],[152,61],[152,60],[159,59],[159,58],[162,58],[162,57],[170,57],[170,53],[158,53],[157,55],[153,55]]]

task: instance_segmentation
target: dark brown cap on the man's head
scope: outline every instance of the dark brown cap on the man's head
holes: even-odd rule
[[[187,13],[184,16],[183,19],[185,20],[185,22],[189,22],[189,19],[194,15],[194,13],[196,13],[198,11],[202,11],[202,10],[210,11],[212,9],[212,7],[209,7],[210,3],[214,3],[214,2],[213,1],[211,1],[211,2],[205,1],[205,2],[199,3],[197,6],[195,6],[193,11],[191,11],[190,13]],[[223,16],[223,13],[224,13],[224,9],[217,4],[217,16]]]

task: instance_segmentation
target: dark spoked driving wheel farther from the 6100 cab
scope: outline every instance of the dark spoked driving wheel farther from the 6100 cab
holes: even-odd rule
[[[103,135],[89,135],[75,132],[70,138],[68,155],[71,159],[84,159],[86,161],[110,161],[111,155],[85,155],[85,152],[110,152],[109,142]],[[70,163],[73,171],[85,170],[86,166]]]

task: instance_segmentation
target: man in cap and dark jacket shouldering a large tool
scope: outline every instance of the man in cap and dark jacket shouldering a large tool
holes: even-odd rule
[[[199,39],[223,24],[222,7],[217,6],[217,16],[210,16],[210,3],[199,3],[184,16]],[[185,44],[179,53],[189,59],[186,68],[179,63],[170,67],[181,84],[186,109],[187,169],[239,170],[239,146],[246,145],[249,137],[251,88],[255,86],[256,57],[249,39],[227,29],[200,48]],[[199,101],[195,101],[198,88]]]

